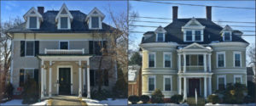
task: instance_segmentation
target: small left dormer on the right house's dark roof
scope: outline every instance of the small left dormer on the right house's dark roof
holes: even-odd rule
[[[155,42],[165,42],[166,41],[166,30],[159,26],[155,31]]]

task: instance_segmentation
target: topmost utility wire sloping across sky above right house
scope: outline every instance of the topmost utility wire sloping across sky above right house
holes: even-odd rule
[[[144,0],[137,0],[138,2],[146,2],[146,3],[164,3],[164,2],[158,2],[158,1],[144,1]],[[189,3],[165,3],[165,4],[176,4],[176,5],[188,5],[188,6],[200,6],[200,7],[207,7],[207,5],[201,5],[201,4],[189,4]],[[244,8],[244,7],[229,7],[229,6],[212,6],[215,8],[243,8],[243,9],[254,9],[255,8]]]

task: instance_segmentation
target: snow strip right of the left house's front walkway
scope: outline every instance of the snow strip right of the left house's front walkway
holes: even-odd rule
[[[86,102],[88,105],[102,105],[102,106],[108,106],[108,105],[127,105],[128,100],[127,99],[115,99],[112,100],[111,98],[108,98],[108,100],[94,100],[94,99],[88,99],[83,98],[83,101]]]

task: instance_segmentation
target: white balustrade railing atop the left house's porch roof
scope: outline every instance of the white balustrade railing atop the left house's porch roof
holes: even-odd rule
[[[83,49],[44,49],[45,54],[84,54]]]

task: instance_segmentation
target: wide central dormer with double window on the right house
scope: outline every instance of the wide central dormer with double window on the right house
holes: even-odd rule
[[[183,42],[203,42],[205,26],[193,17],[182,27]]]

